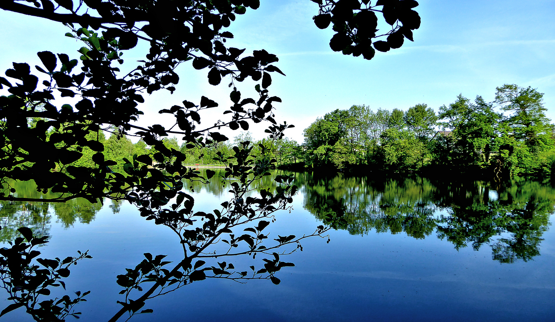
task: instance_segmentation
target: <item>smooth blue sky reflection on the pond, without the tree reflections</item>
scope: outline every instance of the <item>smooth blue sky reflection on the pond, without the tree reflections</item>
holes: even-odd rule
[[[196,210],[219,208],[225,199],[214,200],[214,195],[228,196],[229,189],[216,188],[195,187]],[[305,209],[310,189],[301,191],[304,195],[294,198],[294,210],[282,212],[266,228],[271,232],[270,238],[310,233],[320,224]],[[499,200],[492,190],[488,197]],[[380,198],[383,196],[368,200],[376,203]],[[88,301],[79,304],[78,310],[83,312],[80,321],[104,321],[120,308],[115,303],[120,299],[115,276],[139,263],[143,253],[168,254],[168,260],[179,260],[179,245],[168,228],[140,218],[129,204],[120,205],[118,213],[113,213],[109,205],[105,203],[89,224],[75,220],[66,229],[64,223],[52,220],[51,243],[41,249],[41,256],[47,258],[90,249],[93,259],[73,266],[67,281],[68,293],[92,290]],[[431,217],[452,215],[450,208],[434,207]],[[548,218],[550,222],[555,219],[553,215]],[[446,227],[446,223],[441,226]],[[331,230],[330,235],[329,244],[310,239],[303,243],[302,253],[290,255],[286,260],[296,267],[279,273],[280,285],[270,281],[199,281],[151,300],[144,308],[154,309],[154,314],[132,320],[549,321],[555,316],[552,229],[541,236],[541,255],[514,264],[492,260],[488,245],[479,250],[470,245],[456,250],[446,239],[436,238],[435,233],[415,239],[405,232],[372,230],[369,234],[352,235],[339,229]],[[495,235],[495,240],[510,237],[510,233],[502,232]],[[248,270],[249,265],[261,266],[261,258],[226,260],[238,270]],[[22,310],[3,319],[31,321]]]

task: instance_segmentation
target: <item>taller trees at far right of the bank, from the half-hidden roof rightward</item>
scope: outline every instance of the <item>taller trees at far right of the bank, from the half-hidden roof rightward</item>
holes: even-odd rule
[[[455,103],[440,108],[443,127],[453,133],[436,140],[435,163],[457,170],[478,167],[497,177],[549,177],[555,142],[542,97],[536,89],[508,84],[497,88],[493,103],[480,96],[470,103],[459,95]],[[494,105],[513,113],[493,112]]]

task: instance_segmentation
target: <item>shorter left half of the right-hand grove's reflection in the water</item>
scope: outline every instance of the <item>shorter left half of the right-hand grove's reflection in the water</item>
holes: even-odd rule
[[[430,202],[429,185],[411,179],[372,180],[365,177],[334,178],[304,175],[305,208],[336,229],[351,234],[405,232],[424,238],[435,229],[431,217],[435,205]],[[422,199],[422,197],[425,197]]]

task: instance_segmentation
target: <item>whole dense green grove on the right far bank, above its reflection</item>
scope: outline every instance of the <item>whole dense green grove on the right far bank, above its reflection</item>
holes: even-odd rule
[[[311,167],[337,169],[368,165],[413,172],[431,165],[497,178],[552,177],[555,125],[544,114],[542,99],[536,89],[503,85],[497,88],[495,102],[485,102],[481,96],[471,102],[458,95],[455,102],[441,106],[438,115],[426,104],[406,112],[373,112],[365,105],[353,105],[328,113],[305,129],[302,158]],[[497,113],[496,107],[512,114]],[[444,131],[436,131],[437,127]]]

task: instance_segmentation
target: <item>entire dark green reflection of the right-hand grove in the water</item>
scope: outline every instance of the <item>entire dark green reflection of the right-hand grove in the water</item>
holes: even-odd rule
[[[539,255],[543,232],[553,213],[555,190],[515,179],[497,187],[490,199],[485,182],[432,182],[402,179],[297,176],[305,191],[305,208],[324,223],[351,234],[404,232],[425,238],[434,231],[458,250],[491,245],[501,263]],[[498,238],[495,238],[498,236]]]

